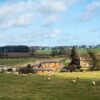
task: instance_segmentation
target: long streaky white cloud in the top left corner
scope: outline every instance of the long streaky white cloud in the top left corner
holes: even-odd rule
[[[6,2],[0,5],[0,16],[1,15],[13,15],[17,13],[23,12],[31,12],[33,9],[33,2],[32,1],[20,1],[16,3]]]

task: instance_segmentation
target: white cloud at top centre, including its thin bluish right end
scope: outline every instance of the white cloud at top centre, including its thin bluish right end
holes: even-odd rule
[[[41,0],[39,9],[44,14],[59,13],[67,10],[78,0]]]

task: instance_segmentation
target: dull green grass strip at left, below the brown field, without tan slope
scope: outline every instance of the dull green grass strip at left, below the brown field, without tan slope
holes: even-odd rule
[[[24,64],[28,62],[34,62],[36,59],[27,58],[27,59],[0,59],[0,65],[16,66],[19,64]]]

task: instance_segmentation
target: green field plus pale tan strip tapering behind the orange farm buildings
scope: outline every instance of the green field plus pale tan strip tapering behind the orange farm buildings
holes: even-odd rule
[[[60,60],[62,58],[13,58],[13,59],[0,59],[0,65],[6,66],[26,66],[27,64],[39,64],[44,60]]]

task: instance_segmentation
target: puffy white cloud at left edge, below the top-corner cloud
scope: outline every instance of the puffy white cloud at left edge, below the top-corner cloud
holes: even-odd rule
[[[22,14],[15,18],[4,18],[0,23],[0,28],[9,28],[12,26],[25,26],[32,23],[34,15],[31,13]]]

